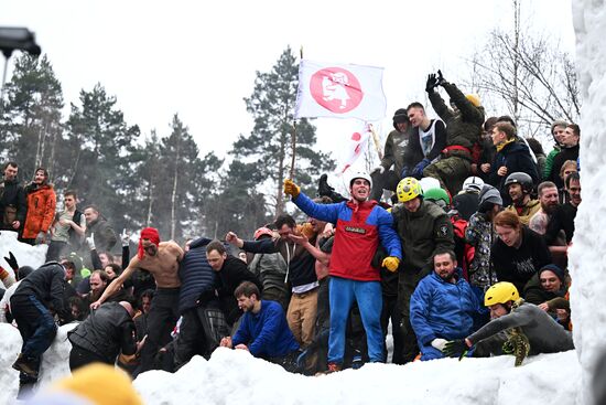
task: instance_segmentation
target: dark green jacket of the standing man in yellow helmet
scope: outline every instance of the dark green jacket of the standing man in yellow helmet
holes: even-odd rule
[[[391,214],[402,241],[404,268],[431,270],[437,249],[454,251],[453,224],[444,210],[433,202],[423,200],[416,212],[397,204]]]

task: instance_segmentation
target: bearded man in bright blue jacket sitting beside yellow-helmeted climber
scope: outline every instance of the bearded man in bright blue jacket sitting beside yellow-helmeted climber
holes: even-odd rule
[[[452,251],[433,256],[434,271],[423,278],[410,299],[410,322],[421,360],[442,359],[446,342],[473,332],[474,317],[479,313],[479,299],[463,278]]]

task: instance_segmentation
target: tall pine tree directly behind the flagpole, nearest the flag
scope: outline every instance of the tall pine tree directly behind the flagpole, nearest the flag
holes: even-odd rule
[[[255,127],[250,136],[240,135],[230,152],[237,160],[248,158],[248,162],[258,162],[252,170],[271,182],[275,215],[284,209],[282,184],[291,169],[297,70],[296,58],[288,47],[271,72],[257,72],[252,95],[245,99],[247,110],[255,118]],[[296,124],[294,180],[309,191],[314,178],[334,167],[327,153],[315,150],[315,127],[309,120],[301,119]]]

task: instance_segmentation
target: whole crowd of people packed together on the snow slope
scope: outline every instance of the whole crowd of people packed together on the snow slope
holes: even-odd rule
[[[40,268],[6,253],[12,271],[0,270],[2,321],[23,338],[13,364],[22,392],[57,322],[78,322],[72,370],[117,363],[133,376],[176,371],[217,347],[307,375],[444,356],[513,354],[520,365],[573,349],[566,253],[582,201],[578,126],[554,121],[545,156],[441,72],[425,89],[439,118],[420,103],[398,109],[380,166],[351,174],[348,196],[325,175],[314,198],[288,179],[284,193],[309,220],[281,214],[250,241],[229,232],[180,246],[148,227],[130,257],[130,235],[99,207],[80,212],[68,190],[57,211],[45,169],[22,186],[18,163],[6,163],[1,230],[48,245]]]

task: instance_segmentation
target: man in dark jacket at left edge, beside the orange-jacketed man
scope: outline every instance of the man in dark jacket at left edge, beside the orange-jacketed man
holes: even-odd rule
[[[17,180],[15,162],[4,164],[4,178],[0,182],[0,230],[19,232],[25,222],[28,202],[23,186]]]

